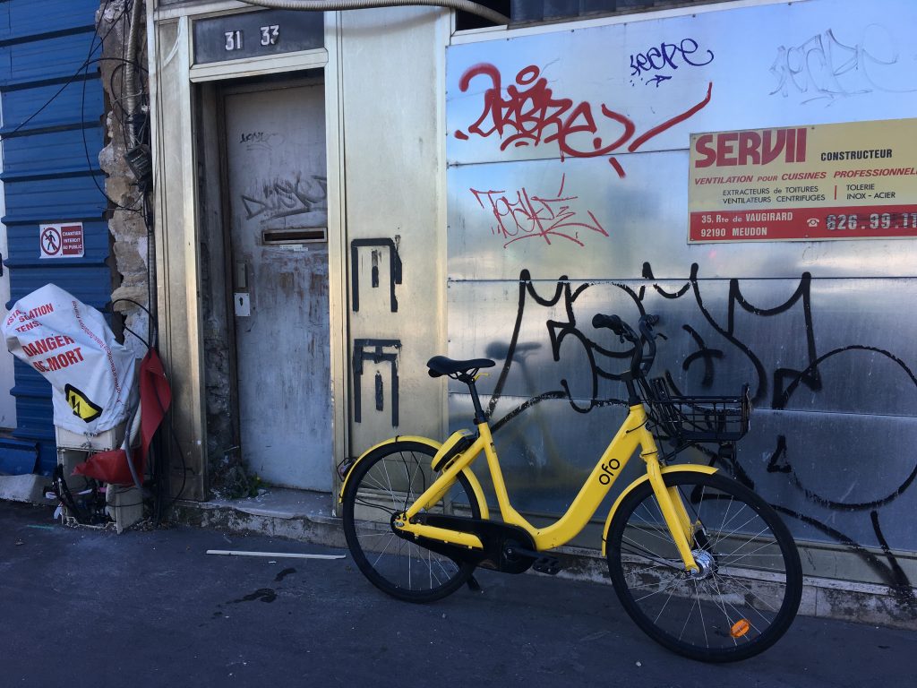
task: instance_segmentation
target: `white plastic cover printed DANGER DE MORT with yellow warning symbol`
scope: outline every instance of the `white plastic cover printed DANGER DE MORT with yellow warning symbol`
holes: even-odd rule
[[[6,348],[51,383],[54,425],[96,435],[125,419],[137,394],[134,355],[95,308],[46,284],[13,305],[3,333]]]

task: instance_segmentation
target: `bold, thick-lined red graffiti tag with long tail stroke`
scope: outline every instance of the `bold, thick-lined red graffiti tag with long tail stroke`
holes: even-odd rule
[[[467,133],[457,129],[456,139],[468,140],[470,134],[486,139],[496,134],[501,139],[500,150],[510,146],[538,146],[557,141],[560,160],[567,156],[595,158],[610,155],[620,150],[624,144],[627,144],[628,151],[634,152],[649,139],[693,117],[710,103],[713,94],[711,82],[707,85],[707,94],[702,101],[635,138],[636,125],[629,117],[601,104],[599,107],[604,119],[600,119],[597,124],[591,104],[583,101],[574,105],[571,99],[556,96],[535,65],[529,65],[516,74],[515,83],[506,87],[505,97],[500,70],[486,62],[476,64],[462,74],[458,82],[459,89],[462,92],[468,91],[471,80],[476,76],[484,76],[491,81],[491,85],[484,91],[481,117],[468,127]],[[613,122],[616,129],[611,136],[600,132],[600,124],[604,126],[609,122]],[[589,144],[583,145],[581,141],[584,138],[591,139]],[[609,158],[609,162],[618,175],[624,177],[620,163],[613,157]]]

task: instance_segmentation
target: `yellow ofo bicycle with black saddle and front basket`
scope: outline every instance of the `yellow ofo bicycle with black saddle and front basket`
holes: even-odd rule
[[[637,455],[646,473],[617,497],[602,534],[627,614],[651,638],[695,660],[744,660],[768,649],[800,604],[801,564],[790,531],[763,499],[716,469],[668,465],[695,443],[734,448],[748,429],[747,387],[736,397],[685,397],[668,394],[662,379],[648,380],[657,320],[642,316],[637,333],[618,316],[593,318],[593,326],[633,345],[622,376],[629,412],[567,512],[547,527],[530,524],[506,491],[475,387],[478,372],[494,361],[428,361],[431,376],[468,385],[476,429],[459,430],[443,444],[388,439],[342,469],[344,532],[359,570],[410,602],[475,586],[476,567],[556,573],[560,562],[549,550],[580,533]],[[654,433],[672,449],[660,453]],[[500,520],[470,469],[481,454]]]

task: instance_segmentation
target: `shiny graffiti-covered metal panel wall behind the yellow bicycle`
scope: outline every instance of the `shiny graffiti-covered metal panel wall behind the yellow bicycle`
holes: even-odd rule
[[[807,574],[913,599],[917,329],[902,315],[917,244],[689,244],[688,218],[692,132],[839,124],[846,150],[865,139],[856,123],[897,119],[878,126],[900,132],[896,161],[911,165],[915,23],[912,0],[807,0],[447,49],[448,353],[501,366],[478,388],[516,508],[559,515],[575,497],[625,413],[610,377],[623,349],[591,318],[646,310],[667,337],[653,374],[686,394],[752,385],[736,460],[694,461],[774,505]],[[675,44],[698,50],[643,69],[642,55]],[[840,204],[855,189],[837,185]],[[405,281],[414,269],[405,258]],[[450,425],[467,427],[467,390],[450,392]],[[909,605],[891,613],[912,617]]]

